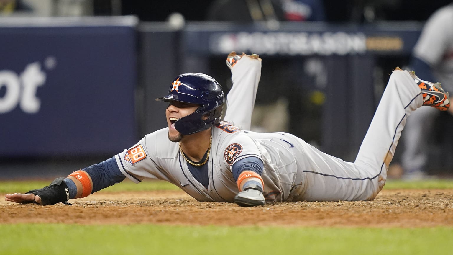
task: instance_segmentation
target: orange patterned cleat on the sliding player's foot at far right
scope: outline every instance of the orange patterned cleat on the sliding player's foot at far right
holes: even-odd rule
[[[438,108],[441,111],[450,107],[450,95],[440,86],[440,83],[431,83],[418,78],[415,72],[409,72],[410,76],[419,85],[423,96],[423,105]]]

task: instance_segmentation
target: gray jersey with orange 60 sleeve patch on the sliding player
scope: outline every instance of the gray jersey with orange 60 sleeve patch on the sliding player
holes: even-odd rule
[[[258,157],[264,162],[262,178],[266,201],[287,201],[300,194],[304,175],[297,171],[301,150],[297,137],[287,133],[241,131],[231,123],[212,127],[206,188],[190,173],[177,142],[168,139],[168,127],[146,135],[135,146],[116,155],[120,171],[132,181],[144,178],[165,180],[183,189],[198,201],[232,202],[239,192],[231,166],[237,159]]]

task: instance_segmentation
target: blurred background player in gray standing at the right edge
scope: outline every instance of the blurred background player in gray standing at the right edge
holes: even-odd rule
[[[414,47],[410,67],[428,80],[442,83],[443,88],[453,92],[453,4],[434,12],[426,22]],[[435,38],[435,40],[433,40]],[[453,114],[453,108],[449,113]],[[403,178],[421,179],[426,177],[424,169],[428,161],[428,151],[419,144],[429,144],[429,135],[438,112],[432,108],[422,108],[408,119],[403,136],[404,151],[401,157],[405,170]]]

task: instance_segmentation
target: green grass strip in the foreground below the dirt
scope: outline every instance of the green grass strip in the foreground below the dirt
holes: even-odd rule
[[[0,225],[0,253],[453,254],[452,228]]]

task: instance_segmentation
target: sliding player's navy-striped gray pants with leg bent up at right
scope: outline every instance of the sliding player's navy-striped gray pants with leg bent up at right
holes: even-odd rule
[[[299,169],[305,186],[299,201],[372,200],[381,191],[406,118],[421,107],[421,91],[407,71],[395,70],[361,144],[356,161],[345,162],[300,140]]]

